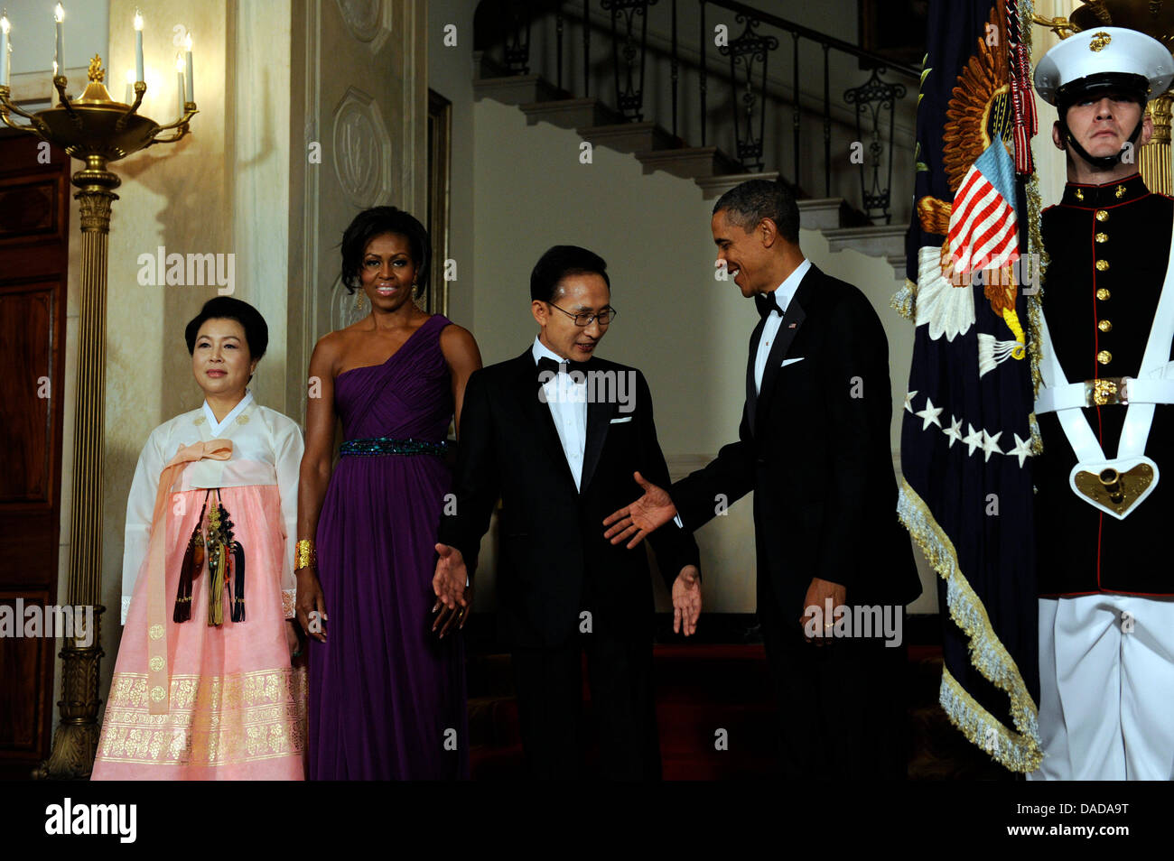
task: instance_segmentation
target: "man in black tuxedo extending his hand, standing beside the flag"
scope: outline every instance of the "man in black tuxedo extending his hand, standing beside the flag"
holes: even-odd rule
[[[897,520],[884,328],[859,290],[803,257],[783,184],[731,189],[710,226],[717,265],[762,316],[738,441],[668,493],[641,480],[645,495],[610,515],[605,535],[632,548],[677,514],[697,529],[754,490],[758,619],[784,772],[903,778],[900,626],[920,582]]]

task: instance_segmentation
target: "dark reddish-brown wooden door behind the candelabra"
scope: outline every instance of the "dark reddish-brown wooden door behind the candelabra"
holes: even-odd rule
[[[7,626],[0,618],[0,779],[7,780],[28,778],[48,755],[54,701],[55,640],[43,629],[40,637],[12,636],[26,631],[16,608],[56,603],[60,557],[69,158],[53,149],[41,163],[38,143],[0,134],[0,613],[8,617]]]

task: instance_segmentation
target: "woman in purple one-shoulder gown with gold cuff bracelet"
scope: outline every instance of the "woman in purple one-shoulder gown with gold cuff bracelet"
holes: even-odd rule
[[[295,561],[310,779],[464,778],[461,640],[432,631],[432,575],[451,481],[444,440],[481,359],[467,331],[413,301],[431,259],[416,218],[360,212],[342,252],[343,283],[371,313],[310,359]],[[336,418],[345,441],[331,470]]]

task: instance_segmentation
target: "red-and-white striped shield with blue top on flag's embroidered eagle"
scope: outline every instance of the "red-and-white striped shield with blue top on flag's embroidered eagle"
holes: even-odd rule
[[[1016,169],[996,138],[966,171],[950,213],[954,271],[999,269],[1019,259]]]

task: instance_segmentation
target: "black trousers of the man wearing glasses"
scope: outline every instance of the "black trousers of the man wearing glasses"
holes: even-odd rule
[[[583,651],[591,724],[583,719]],[[512,662],[522,746],[533,779],[580,777],[583,751],[595,740],[594,771],[603,780],[660,780],[650,638],[634,640],[596,629],[576,635],[560,649],[515,646]]]

